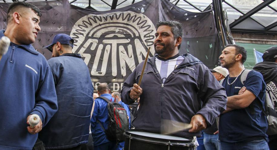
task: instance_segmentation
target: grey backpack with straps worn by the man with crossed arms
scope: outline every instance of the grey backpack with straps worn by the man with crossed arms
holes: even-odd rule
[[[240,76],[240,81],[243,85],[244,85],[246,77],[250,71],[251,70],[245,69],[242,72],[242,74]],[[223,80],[220,81],[220,84],[223,83]],[[265,114],[267,121],[268,121],[268,129],[266,131],[266,134],[267,135],[277,134],[277,113],[274,109],[274,106],[272,104],[272,101],[271,101],[267,91],[265,92],[265,109],[263,108],[261,103],[258,103],[258,105],[259,105],[260,109],[262,110],[262,112]],[[254,106],[250,104],[249,107],[251,109],[251,113],[254,113]]]

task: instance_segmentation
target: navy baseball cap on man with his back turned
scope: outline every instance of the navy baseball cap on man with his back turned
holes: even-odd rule
[[[60,42],[61,44],[69,45],[73,48],[73,38],[71,38],[69,35],[66,34],[57,34],[54,36],[53,41],[50,45],[45,46],[44,48],[47,48],[50,52],[52,52],[52,46],[56,44],[57,42]]]

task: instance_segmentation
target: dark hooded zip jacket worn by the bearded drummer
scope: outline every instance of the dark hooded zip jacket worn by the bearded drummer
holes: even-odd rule
[[[136,129],[161,132],[163,119],[190,123],[191,118],[201,114],[210,126],[215,118],[226,109],[227,97],[224,88],[211,71],[190,54],[182,55],[184,60],[162,84],[155,66],[155,55],[147,60],[140,87],[140,108],[133,121]],[[138,83],[143,62],[129,75],[123,84],[121,98],[125,104],[133,103],[130,90]],[[188,130],[175,133],[177,136],[200,136]]]

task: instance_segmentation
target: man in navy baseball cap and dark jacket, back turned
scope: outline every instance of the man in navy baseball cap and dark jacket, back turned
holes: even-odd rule
[[[52,52],[48,63],[59,107],[39,134],[45,149],[80,149],[88,141],[93,85],[81,55],[72,53],[73,42],[69,35],[57,34],[44,47]]]

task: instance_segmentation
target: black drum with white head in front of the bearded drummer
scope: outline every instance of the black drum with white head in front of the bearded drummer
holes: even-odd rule
[[[124,132],[124,150],[194,150],[192,138],[155,134],[143,130],[127,129]]]

